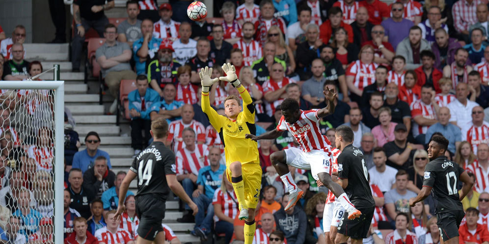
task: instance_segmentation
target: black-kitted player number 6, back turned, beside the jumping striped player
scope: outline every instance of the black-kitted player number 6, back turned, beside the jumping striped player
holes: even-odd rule
[[[335,243],[346,243],[348,237],[352,244],[362,244],[367,238],[370,222],[374,217],[375,202],[368,183],[368,171],[363,153],[352,145],[353,130],[345,125],[336,128],[336,147],[341,150],[338,156],[338,183],[345,189],[353,205],[362,212],[359,218],[349,220],[346,215],[338,225]]]

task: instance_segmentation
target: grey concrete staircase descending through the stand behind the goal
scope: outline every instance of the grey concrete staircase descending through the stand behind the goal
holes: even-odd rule
[[[65,81],[65,106],[70,109],[77,123],[75,130],[80,135],[83,144],[85,135],[96,131],[101,136],[100,149],[110,155],[112,171],[128,171],[131,166],[134,150],[131,148],[130,129],[128,121],[121,118],[121,125],[115,125],[116,115],[107,115],[108,108],[113,101],[109,95],[104,95],[104,104],[99,105],[98,82],[94,79],[87,84],[83,83],[83,73],[71,73],[68,44],[24,44],[27,51],[27,60],[41,61],[44,70],[61,65],[61,80]],[[46,73],[41,79],[52,80],[53,73]],[[85,149],[82,145],[80,150]],[[136,181],[133,181],[130,190],[136,193]],[[182,243],[200,243],[200,240],[189,234],[193,229],[191,223],[179,223],[183,213],[178,211],[178,201],[166,202],[166,212],[163,222],[170,226]]]

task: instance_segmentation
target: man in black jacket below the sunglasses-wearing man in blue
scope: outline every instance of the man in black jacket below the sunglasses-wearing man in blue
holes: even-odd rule
[[[83,188],[88,193],[100,198],[102,193],[114,186],[115,174],[107,167],[107,158],[99,156],[95,165],[83,174]]]

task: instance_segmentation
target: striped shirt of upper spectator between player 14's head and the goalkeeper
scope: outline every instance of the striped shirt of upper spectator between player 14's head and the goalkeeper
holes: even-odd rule
[[[168,137],[166,138],[167,142],[173,142],[174,152],[180,150],[184,145],[182,132],[186,127],[191,127],[195,131],[197,142],[205,142],[205,128],[201,122],[192,120],[190,124],[184,124],[182,120],[176,120],[168,126]]]

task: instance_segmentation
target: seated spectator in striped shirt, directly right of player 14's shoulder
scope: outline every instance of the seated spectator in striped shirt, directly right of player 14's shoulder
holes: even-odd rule
[[[177,178],[179,175],[183,174],[194,174],[197,176],[200,168],[209,164],[207,162],[209,151],[207,150],[206,145],[195,143],[195,132],[192,128],[185,128],[182,136],[185,147],[178,150],[175,155]]]

